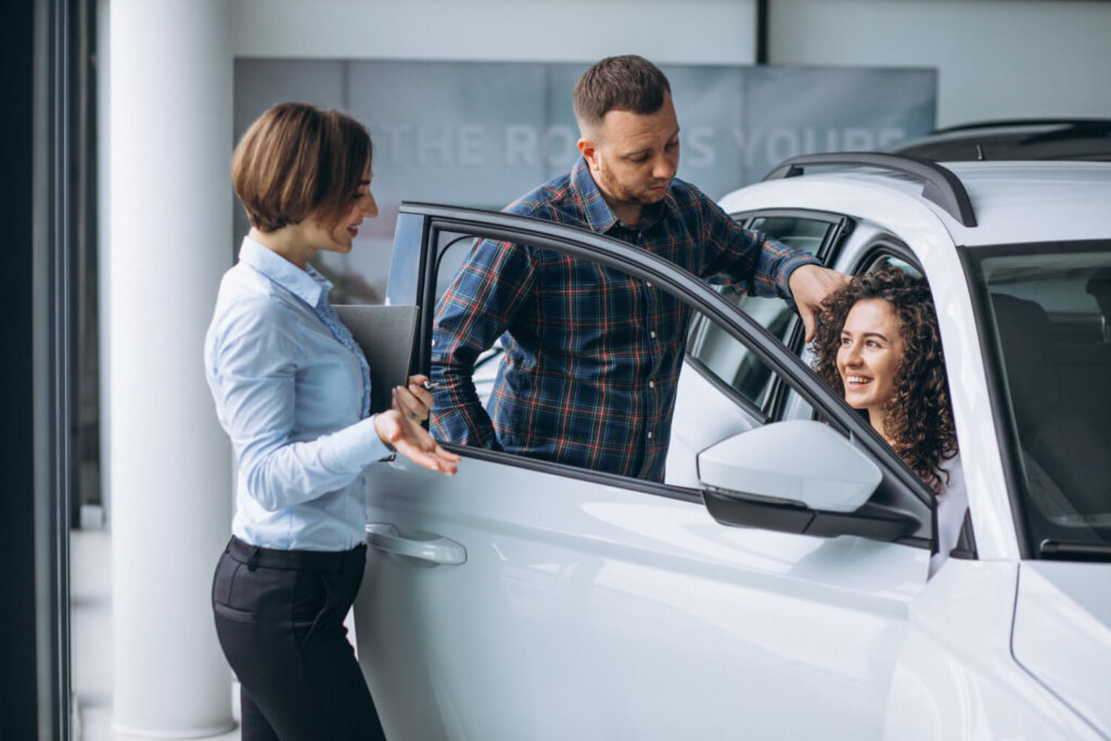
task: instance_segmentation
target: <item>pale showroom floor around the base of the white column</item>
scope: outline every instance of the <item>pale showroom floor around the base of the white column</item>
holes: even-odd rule
[[[73,741],[136,741],[112,731],[112,541],[106,530],[70,533]],[[229,691],[231,691],[229,689]],[[232,708],[238,714],[238,703]],[[239,729],[211,741],[239,741]]]

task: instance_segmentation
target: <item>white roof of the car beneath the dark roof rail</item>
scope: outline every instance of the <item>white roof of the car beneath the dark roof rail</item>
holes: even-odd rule
[[[975,217],[962,226],[955,214],[923,197],[919,178],[870,167],[807,170],[730,193],[727,211],[758,208],[831,210],[877,223],[912,218],[913,204],[939,216],[958,244],[1111,239],[1111,162],[1013,161],[941,163],[960,180]],[[882,203],[869,193],[887,197]],[[900,212],[902,211],[902,212]],[[894,227],[892,227],[894,228]]]

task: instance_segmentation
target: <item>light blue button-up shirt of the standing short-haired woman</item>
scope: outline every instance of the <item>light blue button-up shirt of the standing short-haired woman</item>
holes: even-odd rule
[[[367,415],[367,360],[329,290],[250,238],[220,283],[204,372],[239,465],[232,532],[254,545],[354,548],[363,469],[391,455]]]

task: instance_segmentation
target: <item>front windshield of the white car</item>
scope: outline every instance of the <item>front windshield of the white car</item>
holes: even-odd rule
[[[970,250],[1042,558],[1111,554],[1111,242]]]

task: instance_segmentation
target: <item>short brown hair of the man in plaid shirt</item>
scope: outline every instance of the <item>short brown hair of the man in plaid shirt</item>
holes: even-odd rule
[[[580,127],[593,127],[610,111],[654,113],[671,92],[660,68],[643,57],[607,57],[574,86],[574,116]]]

